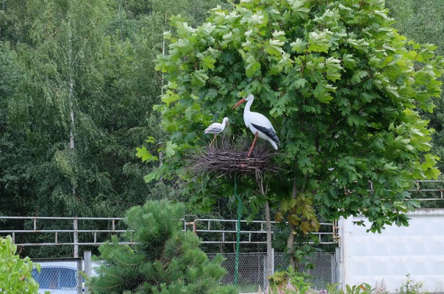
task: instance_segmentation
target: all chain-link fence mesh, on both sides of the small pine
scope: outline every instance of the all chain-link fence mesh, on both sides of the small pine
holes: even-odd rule
[[[216,254],[208,254],[210,259]],[[225,261],[222,266],[227,270],[222,279],[223,284],[234,284],[234,269],[236,266],[236,254],[223,254]],[[86,259],[85,259],[86,260]],[[274,270],[282,270],[287,267],[284,253],[275,253]],[[39,293],[49,291],[60,294],[83,293],[83,260],[74,259],[35,259],[41,266],[40,273],[33,270],[33,277],[40,284]],[[333,284],[335,279],[334,253],[316,253],[309,258],[309,263],[298,265],[300,273],[309,275],[307,282],[316,290],[325,289],[327,284]],[[86,261],[85,261],[86,262]],[[85,268],[87,264],[85,263]],[[91,265],[89,265],[89,268]],[[239,253],[238,285],[240,293],[257,293],[266,288],[268,279],[266,277],[266,253]]]

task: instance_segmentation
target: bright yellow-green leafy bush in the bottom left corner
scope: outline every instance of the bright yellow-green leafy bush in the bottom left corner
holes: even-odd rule
[[[33,268],[40,273],[40,265],[29,257],[20,259],[17,245],[11,236],[0,237],[0,291],[1,293],[38,293],[39,284],[31,276]]]

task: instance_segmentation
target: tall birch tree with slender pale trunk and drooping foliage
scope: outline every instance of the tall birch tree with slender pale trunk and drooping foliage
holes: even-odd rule
[[[92,176],[90,183],[102,191],[109,182],[104,173],[91,173],[94,167],[83,159],[85,148],[94,144],[89,137],[103,138],[87,110],[101,87],[101,46],[112,6],[109,1],[35,0],[19,11],[7,8],[23,17],[17,26],[21,42],[15,46],[28,78],[10,105],[12,116],[21,112],[21,121],[31,122],[18,127],[33,153],[36,204],[49,208],[51,202],[53,211],[80,214],[91,200],[86,179]]]

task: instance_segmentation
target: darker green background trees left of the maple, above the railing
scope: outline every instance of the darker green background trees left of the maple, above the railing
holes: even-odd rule
[[[0,214],[121,216],[147,198],[180,198],[167,180],[146,184],[159,164],[140,162],[135,147],[148,133],[164,137],[153,60],[167,18],[199,24],[219,0],[148,2],[1,1]],[[27,250],[67,254],[60,248]]]

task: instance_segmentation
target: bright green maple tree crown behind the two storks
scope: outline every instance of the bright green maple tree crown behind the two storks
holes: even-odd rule
[[[253,108],[282,141],[280,177],[268,184],[280,219],[305,233],[317,230],[317,214],[363,214],[373,232],[407,225],[405,212],[417,205],[407,189],[439,175],[420,112],[441,95],[443,59],[436,46],[399,35],[386,13],[380,0],[250,0],[214,8],[196,28],[171,18],[176,30],[164,35],[171,44],[156,67],[169,83],[155,110],[177,147],[155,175],[191,182],[183,193],[193,204],[231,195],[221,179],[191,181],[181,158],[223,116],[234,134],[245,132],[231,106],[255,94]],[[253,184],[241,189],[257,207]]]

